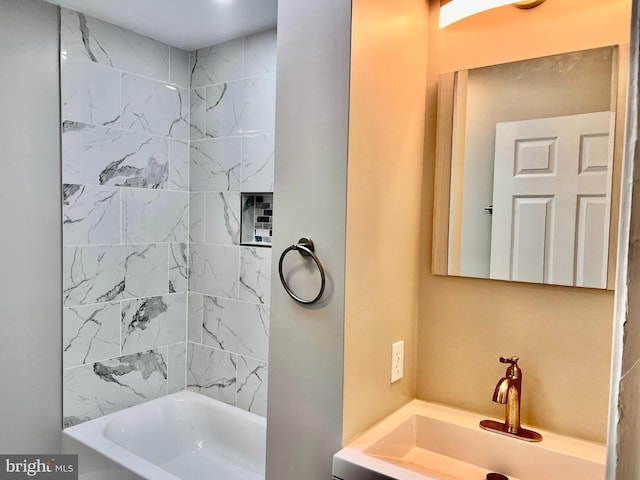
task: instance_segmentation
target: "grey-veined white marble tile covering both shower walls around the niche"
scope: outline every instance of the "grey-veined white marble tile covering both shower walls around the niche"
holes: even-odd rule
[[[187,385],[264,415],[268,260],[236,238],[239,192],[273,191],[275,30],[61,31],[65,424]]]

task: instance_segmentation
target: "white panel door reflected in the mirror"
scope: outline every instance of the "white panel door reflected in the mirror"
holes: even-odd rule
[[[613,122],[496,124],[491,278],[606,287]]]

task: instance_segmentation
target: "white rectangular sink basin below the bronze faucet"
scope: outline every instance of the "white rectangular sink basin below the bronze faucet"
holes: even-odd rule
[[[343,480],[603,480],[605,446],[537,430],[530,443],[482,430],[478,414],[414,400],[334,456]],[[498,419],[496,419],[498,420]]]

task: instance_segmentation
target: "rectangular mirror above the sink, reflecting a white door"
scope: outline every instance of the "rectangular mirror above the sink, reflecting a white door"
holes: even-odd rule
[[[436,201],[448,215],[434,216],[447,225],[434,235],[446,237],[447,262],[434,273],[607,288],[618,57],[609,46],[441,80],[438,161],[450,177],[448,205]]]

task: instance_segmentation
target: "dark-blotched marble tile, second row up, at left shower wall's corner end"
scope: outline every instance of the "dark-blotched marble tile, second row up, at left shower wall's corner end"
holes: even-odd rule
[[[187,294],[124,300],[122,353],[136,353],[185,340]]]

